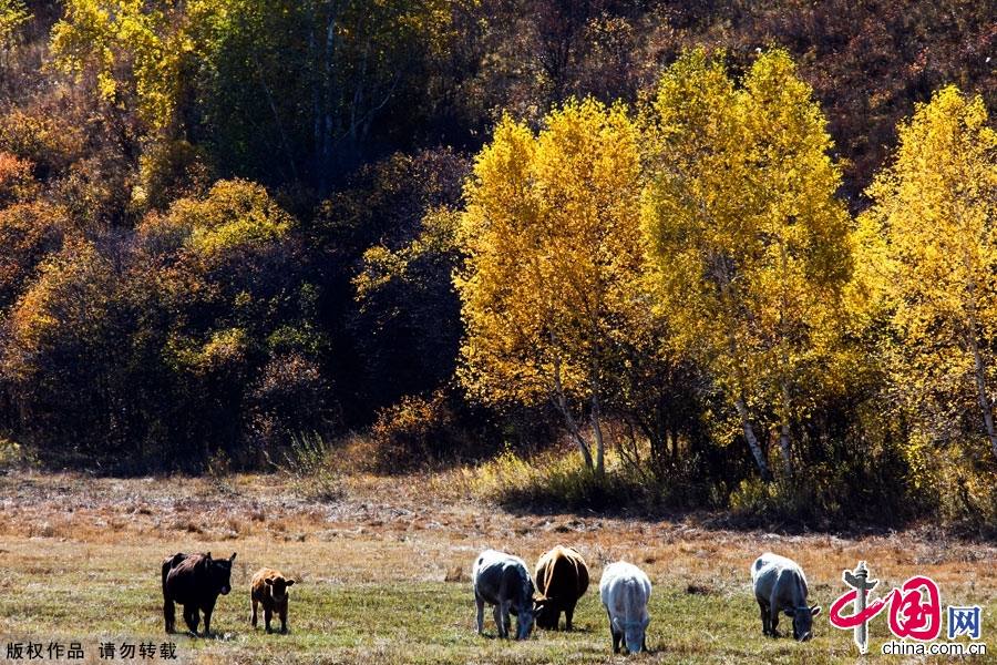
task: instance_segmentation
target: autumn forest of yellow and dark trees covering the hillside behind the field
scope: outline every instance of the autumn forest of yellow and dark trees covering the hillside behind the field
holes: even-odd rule
[[[995,16],[0,0],[0,462],[993,538]]]

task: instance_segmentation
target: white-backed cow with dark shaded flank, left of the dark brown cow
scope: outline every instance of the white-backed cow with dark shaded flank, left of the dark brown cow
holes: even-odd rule
[[[516,617],[516,640],[526,640],[533,630],[533,580],[518,556],[485,550],[471,572],[477,603],[477,634],[484,631],[484,605],[494,605],[498,636],[508,637],[510,612]]]

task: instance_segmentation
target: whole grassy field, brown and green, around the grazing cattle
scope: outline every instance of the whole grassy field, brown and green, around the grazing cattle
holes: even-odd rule
[[[576,630],[536,631],[525,643],[477,636],[469,582],[475,554],[493,546],[532,565],[557,543],[578,548],[593,569]],[[761,634],[748,567],[767,550],[808,572],[811,601],[823,607],[812,642]],[[341,500],[322,503],[276,477],[11,474],[0,477],[0,658],[11,641],[79,641],[89,662],[100,662],[103,641],[166,641],[160,564],[176,551],[238,552],[233,593],[219,598],[212,622],[217,637],[171,637],[181,662],[853,663],[851,635],[832,628],[826,612],[844,591],[842,569],[859,559],[882,586],[927,574],[943,603],[983,605],[983,638],[997,653],[997,548],[924,532],[851,540],[717,531],[695,520],[515,515],[472,498],[455,475],[352,478]],[[634,658],[614,658],[598,602],[602,569],[617,559],[640,565],[655,584],[651,653]],[[288,635],[249,626],[248,581],[263,565],[299,580]],[[872,654],[885,638],[880,616]]]

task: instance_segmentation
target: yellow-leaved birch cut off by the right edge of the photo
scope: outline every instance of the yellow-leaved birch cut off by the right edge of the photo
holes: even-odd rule
[[[896,381],[931,439],[969,422],[997,457],[997,132],[983,99],[948,86],[918,105],[867,193],[902,341]]]

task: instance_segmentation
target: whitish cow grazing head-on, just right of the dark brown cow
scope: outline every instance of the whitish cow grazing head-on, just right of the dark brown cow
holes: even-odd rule
[[[650,600],[650,580],[636,565],[625,561],[610,563],[603,571],[599,597],[609,614],[609,634],[613,653],[619,653],[620,642],[631,654],[647,651],[647,602]]]

